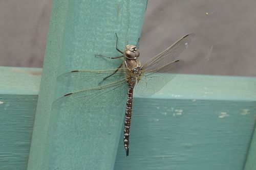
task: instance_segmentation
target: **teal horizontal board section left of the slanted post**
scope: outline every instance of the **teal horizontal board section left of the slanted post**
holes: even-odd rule
[[[27,169],[40,68],[0,67],[0,169]]]

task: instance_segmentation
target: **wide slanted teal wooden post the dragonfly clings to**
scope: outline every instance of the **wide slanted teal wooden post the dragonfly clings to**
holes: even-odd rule
[[[108,114],[52,110],[53,101],[72,90],[56,77],[117,68],[121,60],[94,55],[119,55],[115,33],[121,49],[136,43],[145,6],[146,0],[53,1],[28,169],[113,169],[125,103]]]

